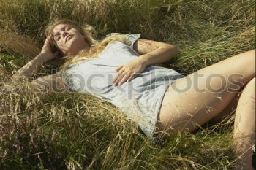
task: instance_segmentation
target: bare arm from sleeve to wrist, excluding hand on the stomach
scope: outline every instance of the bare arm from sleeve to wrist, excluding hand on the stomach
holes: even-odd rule
[[[133,48],[140,54],[140,59],[146,65],[165,63],[179,52],[173,45],[148,39],[138,39]]]

